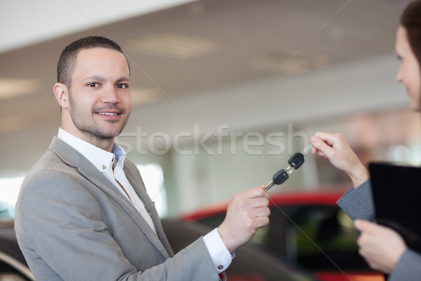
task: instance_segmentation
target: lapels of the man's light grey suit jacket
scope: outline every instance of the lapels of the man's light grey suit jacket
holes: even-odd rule
[[[79,173],[86,178],[88,181],[91,181],[94,185],[96,185],[98,188],[100,188],[103,192],[107,193],[110,197],[114,198],[116,202],[118,202],[121,207],[127,212],[129,216],[135,221],[135,223],[138,224],[139,228],[142,230],[143,233],[149,238],[150,242],[154,244],[156,249],[158,249],[163,256],[169,257],[167,252],[167,245],[168,241],[166,238],[163,240],[163,243],[159,240],[159,237],[161,237],[161,231],[163,233],[163,230],[161,228],[161,223],[159,222],[159,217],[156,214],[156,211],[152,213],[152,220],[154,221],[156,225],[156,230],[158,232],[158,225],[159,225],[159,237],[156,236],[154,231],[149,227],[145,219],[142,217],[142,215],[139,213],[139,211],[129,202],[126,197],[124,197],[123,194],[117,188],[111,183],[98,169],[91,164],[91,162],[88,161],[83,155],[81,155],[79,152],[74,150],[70,145],[67,145],[64,141],[61,141],[59,138],[54,137],[53,141],[49,148],[51,151],[53,151],[60,159],[62,159],[65,164],[69,166],[74,166],[78,169]],[[126,171],[125,171],[126,172]],[[128,181],[130,181],[133,188],[138,186],[138,183],[132,182],[132,176],[126,175],[128,178]],[[143,183],[142,183],[143,184]],[[140,188],[135,188],[135,191],[138,192],[138,195],[140,196],[140,199],[143,200],[143,202],[149,202],[149,197],[142,194],[142,192],[139,192]],[[146,192],[145,192],[146,193]],[[140,195],[142,194],[142,195]],[[145,201],[146,200],[146,201]],[[148,201],[149,200],[149,201]],[[154,208],[150,208],[154,209]],[[155,213],[155,214],[154,214]],[[165,235],[163,235],[165,237]],[[169,244],[168,244],[169,246]],[[171,247],[169,247],[170,252],[169,254],[172,255]]]

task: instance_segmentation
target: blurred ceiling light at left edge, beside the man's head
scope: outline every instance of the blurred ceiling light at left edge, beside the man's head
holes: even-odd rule
[[[41,89],[38,79],[0,78],[0,100],[25,96]]]

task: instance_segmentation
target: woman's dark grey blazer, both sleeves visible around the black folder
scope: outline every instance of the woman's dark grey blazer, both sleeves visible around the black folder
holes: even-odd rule
[[[355,220],[357,218],[375,221],[373,193],[370,181],[358,188],[351,188],[338,200],[338,205]],[[391,202],[392,206],[392,202]],[[421,254],[407,249],[399,259],[388,281],[413,281],[421,279]]]

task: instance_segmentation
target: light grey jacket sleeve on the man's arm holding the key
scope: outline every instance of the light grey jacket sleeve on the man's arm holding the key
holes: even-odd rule
[[[18,199],[15,230],[37,280],[220,281],[202,238],[140,272],[109,232],[103,211],[74,178],[44,173],[28,179]],[[137,243],[148,241],[133,241],[133,249]]]

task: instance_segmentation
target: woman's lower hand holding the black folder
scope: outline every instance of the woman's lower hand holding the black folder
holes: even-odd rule
[[[391,228],[370,221],[356,220],[354,224],[361,231],[357,240],[359,254],[371,268],[392,273],[407,249],[402,237]]]

